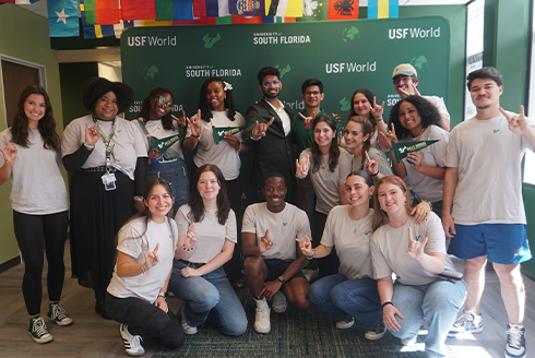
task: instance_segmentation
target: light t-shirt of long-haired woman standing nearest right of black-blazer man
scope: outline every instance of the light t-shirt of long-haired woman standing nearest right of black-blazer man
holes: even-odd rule
[[[340,148],[338,165],[331,171],[329,168],[329,155],[322,156],[322,165],[316,172],[312,171],[313,160],[312,151],[306,148],[299,155],[299,163],[307,160],[307,155],[310,158],[310,168],[308,175],[314,187],[316,196],[316,211],[328,215],[331,208],[342,204],[340,200],[340,186],[343,186],[347,179],[349,172],[352,172],[352,158],[353,156],[342,147]]]

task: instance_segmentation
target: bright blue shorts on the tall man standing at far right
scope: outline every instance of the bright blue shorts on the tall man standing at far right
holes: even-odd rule
[[[457,258],[487,255],[489,261],[503,265],[532,258],[524,224],[455,224],[455,231],[449,251]]]

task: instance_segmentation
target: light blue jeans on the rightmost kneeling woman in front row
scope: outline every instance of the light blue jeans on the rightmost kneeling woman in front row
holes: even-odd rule
[[[401,330],[392,334],[401,339],[411,339],[418,334],[424,318],[429,324],[426,350],[445,356],[444,341],[455,322],[457,312],[466,299],[466,284],[436,281],[429,285],[407,286],[394,284],[392,303],[404,315],[395,319]]]

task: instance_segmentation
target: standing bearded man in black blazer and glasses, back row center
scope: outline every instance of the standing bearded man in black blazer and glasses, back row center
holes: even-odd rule
[[[286,178],[288,192],[286,201],[294,203],[295,159],[292,146],[294,128],[293,112],[288,106],[278,100],[283,87],[281,72],[274,67],[264,67],[258,73],[259,90],[262,99],[247,108],[247,129],[243,141],[252,144],[253,164],[251,183],[257,188],[257,199],[264,200],[260,188],[264,177],[273,171]]]

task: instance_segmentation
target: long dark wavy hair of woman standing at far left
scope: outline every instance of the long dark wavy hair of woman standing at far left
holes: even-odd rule
[[[12,142],[19,144],[25,148],[29,147],[28,140],[28,118],[24,111],[24,104],[31,95],[41,95],[45,98],[45,115],[37,123],[37,129],[39,131],[43,141],[45,142],[44,147],[48,150],[54,150],[60,152],[60,140],[56,132],[56,120],[52,115],[52,106],[50,105],[50,98],[47,92],[39,85],[29,85],[24,88],[16,104],[16,112],[13,118],[13,126],[11,127]]]

